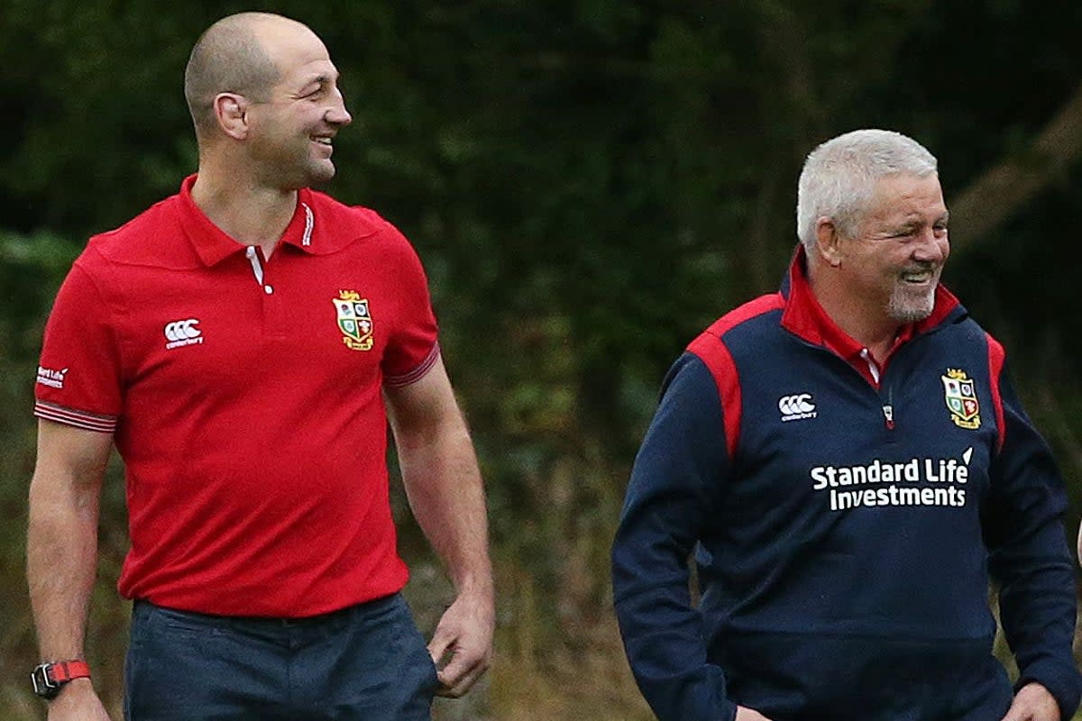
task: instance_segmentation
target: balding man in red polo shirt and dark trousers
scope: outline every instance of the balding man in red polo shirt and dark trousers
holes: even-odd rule
[[[374,212],[308,187],[351,121],[338,79],[301,23],[213,24],[184,78],[198,173],[92,238],[58,293],[27,551],[51,721],[107,718],[83,644],[114,443],[126,718],[428,719],[489,664],[484,490],[421,264]],[[388,419],[457,590],[427,647],[399,593]]]

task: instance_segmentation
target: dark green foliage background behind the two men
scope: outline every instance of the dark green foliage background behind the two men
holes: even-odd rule
[[[342,71],[355,120],[330,190],[379,210],[424,258],[488,482],[497,666],[439,718],[649,718],[608,589],[628,469],[668,364],[716,316],[777,286],[801,160],[846,130],[900,130],[939,157],[948,203],[965,211],[947,283],[1006,345],[1077,529],[1082,123],[1038,144],[1054,118],[1077,120],[1074,2],[5,0],[3,718],[43,718],[22,682],[37,658],[23,563],[43,319],[88,235],[195,170],[184,63],[207,25],[251,9],[307,23]],[[1004,164],[1006,189],[982,192]],[[1012,196],[1024,182],[1038,189]],[[111,588],[120,485],[114,467],[89,643],[110,704],[127,624]],[[449,589],[396,503],[410,599],[431,628]]]

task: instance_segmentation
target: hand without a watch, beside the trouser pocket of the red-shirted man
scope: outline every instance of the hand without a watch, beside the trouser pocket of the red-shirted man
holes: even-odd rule
[[[488,593],[460,595],[444,612],[428,643],[437,668],[450,656],[439,668],[438,695],[458,698],[485,673],[492,660],[494,624],[496,611]]]

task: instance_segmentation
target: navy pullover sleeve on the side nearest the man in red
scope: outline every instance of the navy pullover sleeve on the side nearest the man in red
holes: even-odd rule
[[[722,409],[710,402],[716,393],[701,360],[684,356],[674,364],[612,544],[612,597],[628,662],[665,720],[731,721],[737,711],[688,588],[688,557],[716,523],[728,469]]]

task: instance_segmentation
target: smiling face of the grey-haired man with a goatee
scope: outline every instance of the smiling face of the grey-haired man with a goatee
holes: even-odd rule
[[[837,242],[837,269],[850,302],[875,319],[927,318],[950,255],[947,219],[937,175],[876,181],[856,232]]]

